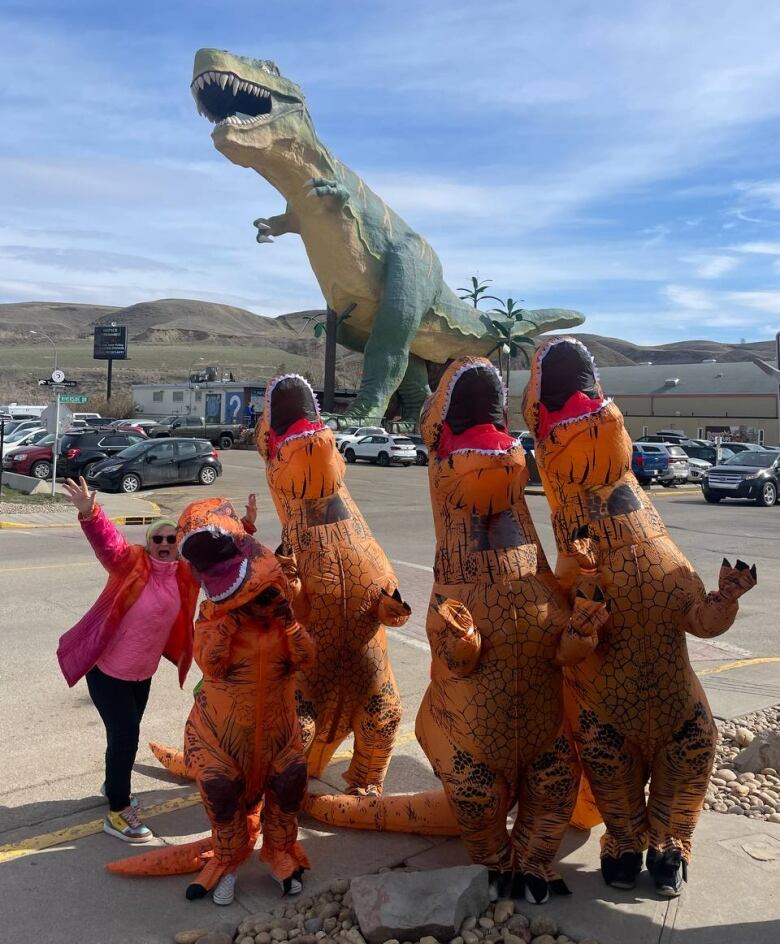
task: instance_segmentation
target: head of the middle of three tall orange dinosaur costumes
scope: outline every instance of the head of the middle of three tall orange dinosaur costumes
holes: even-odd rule
[[[476,513],[511,507],[528,479],[522,444],[507,431],[506,391],[484,357],[461,357],[422,409],[431,489]]]

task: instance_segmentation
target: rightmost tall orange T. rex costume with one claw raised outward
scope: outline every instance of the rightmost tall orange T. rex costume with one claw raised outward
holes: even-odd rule
[[[524,413],[552,509],[556,574],[569,592],[599,585],[611,611],[598,646],[566,670],[580,758],[607,825],[602,874],[632,888],[647,849],[656,888],[677,895],[716,738],[685,634],[725,632],[755,567],[724,560],[718,590],[705,593],[634,478],[623,417],[579,341],[537,350]]]

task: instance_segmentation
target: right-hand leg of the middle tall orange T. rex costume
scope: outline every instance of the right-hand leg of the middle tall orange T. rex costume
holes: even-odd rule
[[[548,881],[577,799],[580,769],[573,744],[561,732],[520,775],[517,819],[512,829],[514,867]]]

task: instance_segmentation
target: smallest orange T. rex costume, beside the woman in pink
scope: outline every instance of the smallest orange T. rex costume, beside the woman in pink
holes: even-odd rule
[[[126,874],[200,868],[187,897],[203,897],[251,854],[262,804],[260,856],[283,891],[295,893],[309,863],[297,841],[306,761],[294,673],[311,664],[313,645],[293,616],[275,555],[244,532],[229,502],[189,505],[179,538],[181,555],[206,593],[194,647],[203,682],[184,730],[184,759],[197,779],[212,840],[108,867]]]

